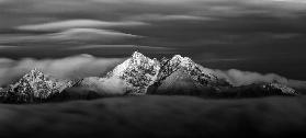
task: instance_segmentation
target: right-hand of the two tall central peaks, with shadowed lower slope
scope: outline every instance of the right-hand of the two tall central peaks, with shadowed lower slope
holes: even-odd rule
[[[161,60],[161,69],[157,81],[149,88],[154,94],[207,94],[222,87],[231,87],[226,80],[217,78],[189,57],[180,55]]]

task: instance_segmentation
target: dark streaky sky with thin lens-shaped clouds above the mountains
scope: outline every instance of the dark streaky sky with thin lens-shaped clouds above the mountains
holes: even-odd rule
[[[305,23],[305,0],[0,0],[0,57],[138,49],[306,80]]]

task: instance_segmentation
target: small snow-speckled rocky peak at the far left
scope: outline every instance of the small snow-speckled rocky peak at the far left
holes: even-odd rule
[[[37,69],[31,70],[4,92],[8,102],[31,103],[49,99],[73,84],[72,81],[58,80],[46,76]]]

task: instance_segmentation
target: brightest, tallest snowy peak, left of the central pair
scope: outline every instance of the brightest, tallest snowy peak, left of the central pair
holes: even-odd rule
[[[145,94],[147,88],[155,82],[160,65],[157,59],[150,59],[135,51],[131,58],[115,67],[107,78],[120,78],[128,85],[127,93]]]

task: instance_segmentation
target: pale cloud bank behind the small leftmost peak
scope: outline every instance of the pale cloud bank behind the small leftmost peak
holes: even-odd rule
[[[60,79],[79,79],[99,77],[112,70],[123,58],[98,58],[90,55],[78,55],[61,59],[24,58],[13,60],[0,59],[0,85],[12,83],[33,68]]]

